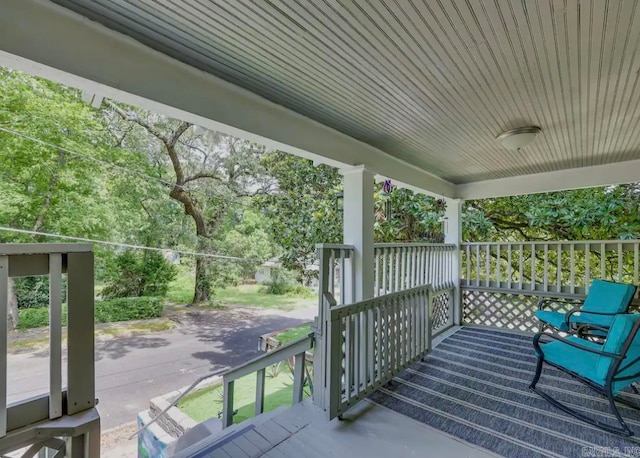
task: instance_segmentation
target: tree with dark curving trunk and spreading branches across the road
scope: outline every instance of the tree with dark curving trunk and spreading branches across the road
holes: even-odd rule
[[[229,208],[268,187],[260,166],[263,148],[252,142],[106,101],[121,147],[143,150],[156,176],[192,221],[194,249],[215,254],[215,237]],[[193,303],[211,297],[211,260],[196,258]]]

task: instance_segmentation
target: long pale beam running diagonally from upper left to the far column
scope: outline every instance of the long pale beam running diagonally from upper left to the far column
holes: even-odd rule
[[[44,0],[4,0],[0,65],[433,194],[455,185]]]

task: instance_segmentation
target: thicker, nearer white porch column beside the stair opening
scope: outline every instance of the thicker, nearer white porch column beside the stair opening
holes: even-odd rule
[[[342,169],[344,176],[344,243],[355,247],[353,300],[373,297],[373,172],[363,165]]]

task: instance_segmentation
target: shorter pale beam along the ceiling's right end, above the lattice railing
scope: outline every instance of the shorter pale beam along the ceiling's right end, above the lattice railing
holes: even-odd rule
[[[460,199],[484,199],[640,181],[640,160],[460,184]]]

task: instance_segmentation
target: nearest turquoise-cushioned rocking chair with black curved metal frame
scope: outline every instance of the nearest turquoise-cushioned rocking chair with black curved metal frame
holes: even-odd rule
[[[599,345],[576,336],[561,337],[558,334],[539,332],[533,338],[538,356],[536,373],[529,388],[560,410],[591,425],[623,436],[632,436],[620,416],[616,402],[640,409],[640,406],[618,397],[623,388],[640,380],[640,314],[615,315],[608,329],[604,345]],[[542,342],[542,340],[548,340]],[[587,386],[606,396],[620,427],[602,423],[595,418],[572,409],[536,387],[542,366],[547,363],[575,377]]]

